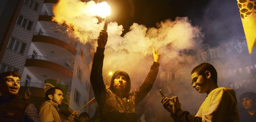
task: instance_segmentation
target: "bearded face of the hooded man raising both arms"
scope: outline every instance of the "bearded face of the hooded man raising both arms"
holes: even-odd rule
[[[127,84],[127,79],[123,75],[117,75],[114,79],[114,89],[117,91],[124,91]]]

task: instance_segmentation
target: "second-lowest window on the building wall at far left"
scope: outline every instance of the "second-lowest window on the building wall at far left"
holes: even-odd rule
[[[17,39],[14,39],[13,37],[11,37],[7,48],[11,49],[15,52],[18,52],[20,54],[23,54],[23,52],[26,48],[26,43],[23,43],[22,41],[19,41]]]

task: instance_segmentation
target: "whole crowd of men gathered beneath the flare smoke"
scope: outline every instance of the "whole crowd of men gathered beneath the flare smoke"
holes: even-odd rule
[[[159,70],[160,55],[153,49],[154,62],[142,85],[130,92],[131,80],[125,71],[116,71],[110,86],[106,87],[102,77],[105,45],[108,33],[100,32],[97,39],[98,47],[94,54],[90,83],[98,104],[96,121],[138,121],[135,108],[150,92]],[[202,63],[191,71],[192,87],[200,94],[207,94],[196,115],[181,110],[178,96],[163,96],[159,102],[170,112],[174,121],[256,121],[254,92],[243,93],[239,100],[242,108],[238,111],[236,92],[226,87],[218,87],[217,71],[213,65]],[[63,102],[63,91],[52,87],[46,91],[46,101],[36,109],[27,101],[31,92],[23,98],[17,94],[20,89],[20,74],[6,71],[0,74],[0,121],[92,121],[86,112],[73,111],[67,120],[61,120],[58,106]],[[193,104],[193,103],[192,103]],[[80,114],[79,114],[80,113]]]

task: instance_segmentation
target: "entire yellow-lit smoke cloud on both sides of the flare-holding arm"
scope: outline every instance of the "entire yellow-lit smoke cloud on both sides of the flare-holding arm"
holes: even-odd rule
[[[79,38],[81,43],[94,43],[104,22],[99,22],[89,11],[93,6],[96,6],[94,1],[60,0],[53,6],[53,20],[69,27],[71,35]],[[197,47],[203,37],[200,28],[191,26],[185,17],[157,23],[156,28],[134,23],[123,37],[120,36],[122,31],[123,27],[116,22],[108,24],[104,73],[106,77],[111,77],[109,71],[126,71],[133,82],[132,90],[141,85],[154,61],[152,48],[159,49],[158,52],[162,54],[161,67],[177,69],[191,61],[191,57],[180,56],[180,51]]]

